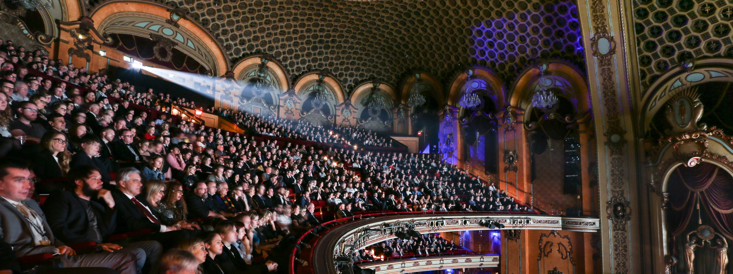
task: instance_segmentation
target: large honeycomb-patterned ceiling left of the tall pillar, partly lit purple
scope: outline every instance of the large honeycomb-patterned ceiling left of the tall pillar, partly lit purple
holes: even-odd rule
[[[369,79],[399,83],[421,69],[445,82],[463,66],[511,81],[537,58],[584,67],[572,1],[179,0],[230,61],[268,53],[292,77],[328,69],[347,90]]]

